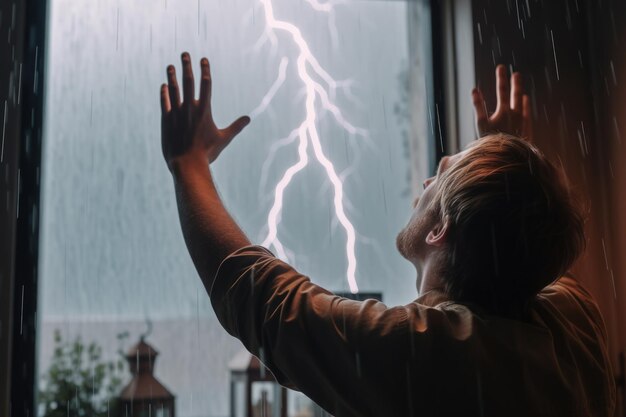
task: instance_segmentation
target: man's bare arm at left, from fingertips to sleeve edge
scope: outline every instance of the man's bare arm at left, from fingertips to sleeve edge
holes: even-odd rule
[[[191,58],[183,53],[183,97],[174,66],[167,68],[161,86],[161,145],[172,173],[180,224],[187,249],[207,291],[220,263],[232,252],[250,245],[217,193],[209,164],[250,122],[240,117],[219,129],[211,114],[211,73],[202,58],[200,97],[195,99]]]

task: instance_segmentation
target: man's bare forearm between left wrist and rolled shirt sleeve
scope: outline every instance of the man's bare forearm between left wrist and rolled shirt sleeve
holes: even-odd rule
[[[210,291],[220,263],[250,241],[224,207],[206,162],[181,161],[172,174],[185,243]]]

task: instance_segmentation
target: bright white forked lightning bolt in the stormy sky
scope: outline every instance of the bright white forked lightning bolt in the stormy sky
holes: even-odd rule
[[[320,142],[320,137],[317,129],[318,113],[316,105],[319,103],[325,111],[329,112],[335,121],[346,132],[351,135],[358,135],[367,137],[367,131],[349,123],[343,116],[341,110],[334,103],[336,92],[338,89],[347,91],[349,94],[349,88],[351,82],[348,81],[336,81],[330,74],[320,65],[317,58],[311,52],[308,43],[302,36],[300,29],[286,21],[278,20],[274,17],[274,8],[272,0],[259,0],[263,12],[265,15],[265,31],[263,36],[259,39],[259,42],[254,46],[254,49],[258,49],[267,41],[272,45],[272,51],[276,52],[278,44],[278,33],[284,33],[295,44],[298,50],[296,59],[296,73],[299,80],[302,82],[305,92],[305,118],[291,134],[281,139],[272,145],[270,149],[270,156],[266,160],[263,166],[261,180],[264,183],[267,179],[267,170],[269,164],[274,158],[276,151],[283,147],[298,142],[298,161],[291,165],[283,174],[280,181],[277,183],[274,190],[274,203],[267,217],[268,232],[263,240],[262,245],[266,247],[273,247],[276,250],[277,255],[280,258],[287,259],[287,251],[278,238],[278,225],[280,223],[280,217],[283,208],[284,193],[287,187],[291,184],[294,176],[301,172],[309,164],[309,146],[313,150],[314,159],[321,164],[326,172],[326,176],[334,191],[333,204],[335,207],[335,215],[339,220],[341,227],[346,233],[346,257],[348,261],[347,265],[347,279],[350,291],[352,293],[358,292],[358,286],[356,282],[356,255],[355,255],[355,243],[356,233],[354,226],[348,219],[344,210],[344,189],[343,183],[340,177],[337,175],[334,165],[327,158],[324,153],[324,149]],[[306,0],[306,2],[316,11],[325,12],[330,15],[330,29],[333,43],[337,38],[336,28],[334,27],[334,6],[340,1],[329,0],[327,2],[320,2],[319,0]],[[268,93],[263,98],[261,104],[253,111],[255,116],[261,114],[272,101],[276,92],[280,89],[286,78],[286,68],[288,60],[282,58],[281,65],[278,71],[278,77],[274,84],[271,86]],[[346,200],[347,201],[347,200]]]

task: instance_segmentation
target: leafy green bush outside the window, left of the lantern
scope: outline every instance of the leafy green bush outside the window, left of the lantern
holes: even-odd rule
[[[118,335],[122,341],[127,334]],[[120,351],[121,353],[121,351]],[[102,360],[102,348],[86,345],[80,337],[73,341],[54,332],[54,353],[39,391],[42,417],[115,415],[124,362]]]

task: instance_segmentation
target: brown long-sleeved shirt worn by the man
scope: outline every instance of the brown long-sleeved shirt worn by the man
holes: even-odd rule
[[[435,292],[398,307],[348,300],[250,246],[224,260],[210,297],[278,382],[336,417],[613,415],[604,324],[571,278],[522,322]]]

